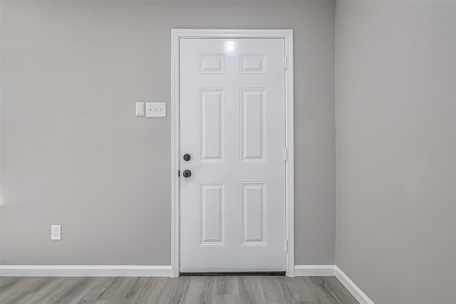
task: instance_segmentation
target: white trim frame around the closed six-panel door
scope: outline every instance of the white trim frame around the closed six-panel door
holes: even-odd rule
[[[293,30],[171,30],[171,276],[180,274],[180,38],[283,38],[285,41],[286,276],[294,276]]]

